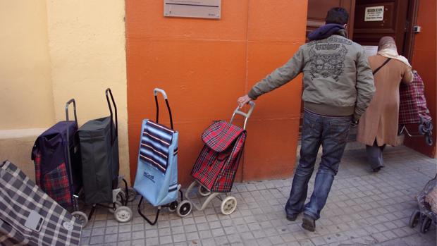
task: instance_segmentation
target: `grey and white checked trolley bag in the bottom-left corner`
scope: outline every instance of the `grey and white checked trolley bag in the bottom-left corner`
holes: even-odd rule
[[[0,164],[0,245],[79,245],[82,226],[9,161]]]

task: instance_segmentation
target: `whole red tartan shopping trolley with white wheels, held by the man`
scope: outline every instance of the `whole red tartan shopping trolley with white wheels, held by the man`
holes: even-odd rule
[[[199,207],[195,202],[193,206],[197,210],[203,210],[214,197],[226,195],[221,199],[221,213],[232,214],[237,207],[237,199],[228,195],[232,189],[237,173],[238,164],[242,156],[246,140],[246,123],[254,109],[254,102],[250,102],[250,109],[247,113],[235,109],[230,123],[226,121],[216,121],[202,134],[204,147],[192,168],[191,175],[195,179],[187,188],[185,197],[192,202],[189,197],[190,190],[198,184],[199,195],[207,197],[202,206]],[[245,117],[243,128],[232,124],[235,114]]]

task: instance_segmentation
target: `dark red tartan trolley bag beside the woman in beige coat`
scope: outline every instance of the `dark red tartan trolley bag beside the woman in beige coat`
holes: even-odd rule
[[[413,73],[413,81],[399,88],[399,124],[414,124],[420,122],[420,117],[431,121],[429,110],[426,107],[424,81],[419,74]]]

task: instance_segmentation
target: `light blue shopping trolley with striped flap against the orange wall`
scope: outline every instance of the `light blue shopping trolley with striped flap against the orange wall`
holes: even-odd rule
[[[163,94],[170,115],[171,128],[158,123],[159,104],[157,94]],[[178,184],[178,131],[173,129],[171,109],[164,90],[154,89],[156,102],[156,121],[144,119],[140,135],[140,149],[137,160],[137,175],[134,189],[142,195],[138,204],[138,213],[152,226],[156,223],[161,207],[176,211],[178,216],[190,214],[192,204],[183,199]],[[180,192],[181,202],[178,202]],[[142,214],[142,200],[147,199],[154,207],[158,207],[154,221]]]

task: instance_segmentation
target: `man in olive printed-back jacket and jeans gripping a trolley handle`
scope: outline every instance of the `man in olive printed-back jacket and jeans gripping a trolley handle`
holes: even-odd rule
[[[326,15],[326,25],[309,34],[310,42],[302,45],[284,66],[267,75],[247,95],[238,99],[238,104],[243,106],[303,73],[300,161],[285,213],[288,220],[295,221],[303,212],[302,227],[310,231],[315,230],[315,221],[320,218],[320,211],[326,204],[350,125],[357,124],[375,92],[364,49],[347,39],[345,27],[348,18],[344,8],[331,8]],[[304,204],[320,145],[323,154],[314,192],[309,202]]]

